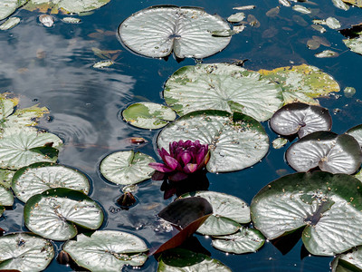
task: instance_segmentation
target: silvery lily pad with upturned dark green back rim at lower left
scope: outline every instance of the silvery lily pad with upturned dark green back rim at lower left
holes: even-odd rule
[[[75,225],[100,228],[103,211],[80,191],[48,189],[26,202],[24,222],[27,228],[43,238],[64,241],[77,235]]]

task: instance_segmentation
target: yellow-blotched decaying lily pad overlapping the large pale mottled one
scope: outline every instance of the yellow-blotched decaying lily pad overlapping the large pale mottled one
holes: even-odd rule
[[[319,104],[314,98],[339,92],[338,83],[328,73],[307,64],[260,70],[259,73],[281,85],[284,103]]]

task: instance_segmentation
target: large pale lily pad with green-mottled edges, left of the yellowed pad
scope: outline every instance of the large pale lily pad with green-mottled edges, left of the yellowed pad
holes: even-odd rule
[[[242,112],[266,121],[282,106],[281,88],[233,64],[214,63],[178,69],[165,84],[167,105],[179,115],[199,110]]]

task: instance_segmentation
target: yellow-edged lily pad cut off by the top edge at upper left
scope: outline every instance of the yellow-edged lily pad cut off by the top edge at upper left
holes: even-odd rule
[[[29,0],[24,8],[30,11],[38,9],[41,12],[51,9],[52,14],[57,14],[58,10],[68,14],[80,14],[100,8],[109,2],[110,0]]]

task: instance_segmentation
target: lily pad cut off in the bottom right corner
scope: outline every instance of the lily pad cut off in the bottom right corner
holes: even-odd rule
[[[331,264],[332,272],[362,271],[362,247],[353,248],[335,257]]]

